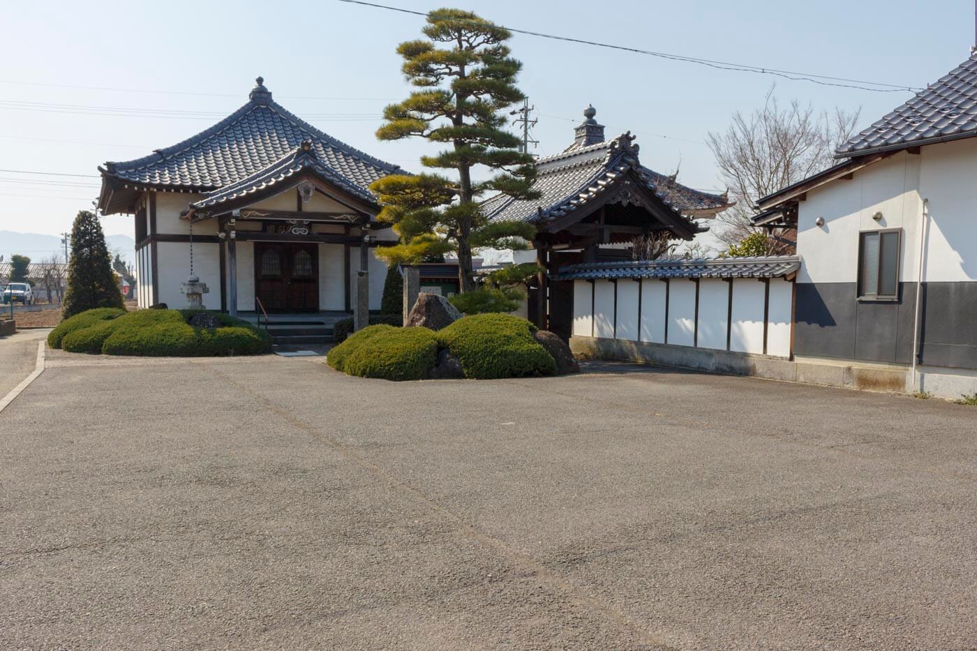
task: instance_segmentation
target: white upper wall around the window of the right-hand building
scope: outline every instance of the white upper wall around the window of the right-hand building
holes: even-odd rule
[[[915,279],[922,199],[918,191],[925,157],[900,152],[807,193],[798,204],[799,282],[856,282],[859,233],[903,229],[900,280]],[[874,221],[872,215],[882,213]],[[815,224],[824,217],[825,226]]]

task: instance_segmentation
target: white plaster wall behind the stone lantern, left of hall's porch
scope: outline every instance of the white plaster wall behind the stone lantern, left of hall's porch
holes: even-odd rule
[[[157,303],[166,303],[177,309],[187,304],[187,297],[180,293],[180,286],[190,275],[190,246],[183,242],[161,241],[156,243],[159,256],[159,297]],[[203,295],[208,310],[221,309],[221,251],[214,243],[193,244],[193,273],[206,282],[210,292]]]

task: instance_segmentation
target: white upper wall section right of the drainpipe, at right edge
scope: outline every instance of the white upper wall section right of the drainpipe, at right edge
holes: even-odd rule
[[[919,195],[929,199],[924,279],[977,281],[977,142],[931,145],[921,158]]]

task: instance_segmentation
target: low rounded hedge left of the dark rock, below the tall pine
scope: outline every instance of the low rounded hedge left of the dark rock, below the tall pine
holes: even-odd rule
[[[425,379],[438,361],[438,336],[426,327],[370,325],[329,351],[326,362],[350,375]]]

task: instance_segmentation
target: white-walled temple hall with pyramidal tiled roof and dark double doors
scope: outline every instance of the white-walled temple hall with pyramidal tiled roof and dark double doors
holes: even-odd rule
[[[182,307],[191,264],[212,310],[350,313],[361,271],[380,307],[375,247],[397,236],[369,185],[399,168],[283,109],[261,77],[209,129],[99,170],[103,214],[135,217],[140,307]]]

